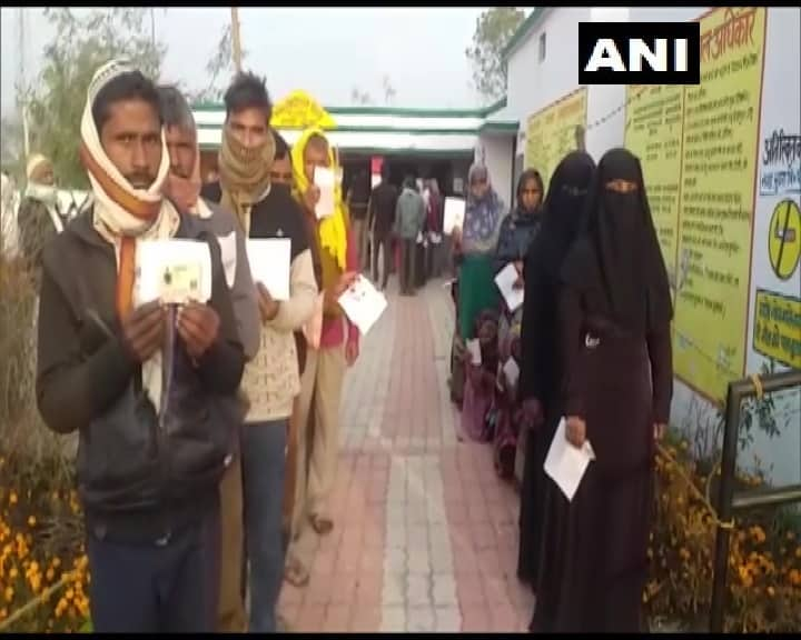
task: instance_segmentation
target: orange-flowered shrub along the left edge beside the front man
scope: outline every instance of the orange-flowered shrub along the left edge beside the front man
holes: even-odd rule
[[[78,631],[89,576],[71,490],[75,438],[48,431],[36,409],[36,304],[32,270],[0,254],[0,630]]]

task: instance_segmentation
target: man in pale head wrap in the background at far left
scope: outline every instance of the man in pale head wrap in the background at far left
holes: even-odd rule
[[[20,248],[29,267],[41,267],[42,248],[63,231],[66,220],[58,204],[53,166],[44,156],[34,153],[26,170],[28,187],[17,212]]]

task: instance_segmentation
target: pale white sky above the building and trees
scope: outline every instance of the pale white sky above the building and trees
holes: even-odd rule
[[[18,9],[2,7],[2,113],[13,108],[19,74]],[[41,69],[44,44],[56,36],[39,8],[26,12],[26,76]],[[294,89],[326,106],[348,106],[354,87],[384,104],[383,78],[396,107],[482,106],[465,56],[482,8],[256,8],[239,9],[244,61],[267,79],[274,99]],[[214,54],[230,10],[155,9],[156,37],[168,46],[162,80],[190,89],[208,84]]]

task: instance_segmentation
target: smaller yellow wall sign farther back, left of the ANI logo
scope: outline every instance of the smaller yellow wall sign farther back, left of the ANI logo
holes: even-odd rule
[[[586,88],[530,116],[526,127],[525,166],[536,169],[547,189],[556,164],[575,151],[576,130],[586,127]]]

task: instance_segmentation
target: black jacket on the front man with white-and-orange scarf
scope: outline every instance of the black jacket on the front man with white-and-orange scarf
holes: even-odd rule
[[[188,216],[177,237],[209,244],[210,304],[220,329],[197,367],[176,339],[161,421],[141,388],[140,366],[121,341],[113,248],[92,227],[91,210],[44,249],[37,400],[50,429],[80,432],[78,488],[88,526],[99,536],[161,539],[196,521],[216,500],[230,451],[229,400],[245,356],[220,250]]]

